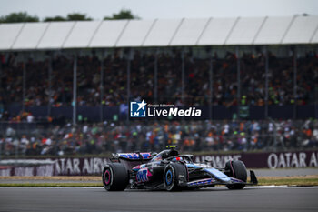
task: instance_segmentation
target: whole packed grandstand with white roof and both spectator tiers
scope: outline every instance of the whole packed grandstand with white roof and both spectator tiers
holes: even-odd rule
[[[3,151],[317,146],[317,43],[315,15],[1,24]],[[209,116],[128,125],[134,99]]]

